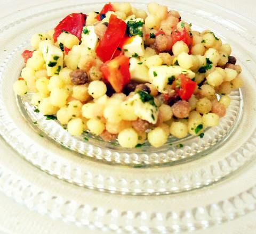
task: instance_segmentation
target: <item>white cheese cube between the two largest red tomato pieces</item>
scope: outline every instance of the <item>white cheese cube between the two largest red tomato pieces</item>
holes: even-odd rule
[[[83,28],[81,45],[84,45],[90,49],[95,50],[98,44],[99,38],[95,34],[94,28],[95,28],[94,26],[85,26]]]

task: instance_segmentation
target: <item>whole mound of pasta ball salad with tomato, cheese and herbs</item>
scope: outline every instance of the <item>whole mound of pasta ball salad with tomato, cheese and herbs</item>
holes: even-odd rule
[[[191,26],[157,3],[148,13],[108,3],[69,14],[32,36],[13,89],[32,93],[35,111],[73,136],[89,131],[127,148],[146,140],[160,147],[170,135],[203,137],[225,116],[242,70],[229,44]]]

